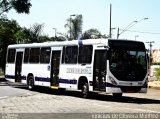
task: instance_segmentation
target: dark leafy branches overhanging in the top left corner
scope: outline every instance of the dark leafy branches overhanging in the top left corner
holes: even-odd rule
[[[30,0],[0,0],[0,15],[15,9],[17,13],[29,13],[31,7]]]

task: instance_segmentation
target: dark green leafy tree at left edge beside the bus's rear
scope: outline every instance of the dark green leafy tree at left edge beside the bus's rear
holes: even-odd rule
[[[20,26],[15,20],[0,18],[0,66],[5,68],[7,47],[17,42],[16,33]]]

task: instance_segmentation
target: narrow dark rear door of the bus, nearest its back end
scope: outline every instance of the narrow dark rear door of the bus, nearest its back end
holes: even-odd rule
[[[23,58],[23,51],[18,50],[16,52],[16,62],[15,62],[15,82],[21,82],[22,58]]]

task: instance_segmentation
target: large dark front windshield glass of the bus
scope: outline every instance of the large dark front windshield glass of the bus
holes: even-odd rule
[[[118,44],[118,42],[116,42]],[[110,45],[110,71],[122,81],[142,81],[147,74],[147,58],[141,42]],[[138,44],[138,45],[137,45]],[[116,46],[116,47],[115,47]]]

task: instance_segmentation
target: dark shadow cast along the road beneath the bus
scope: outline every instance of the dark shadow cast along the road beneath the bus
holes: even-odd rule
[[[13,87],[28,90],[26,86],[13,86]],[[53,90],[45,87],[36,87],[33,91],[50,95],[72,96],[81,98],[81,92],[77,91]],[[102,95],[102,94],[92,94],[89,97],[89,99],[99,100],[99,101],[121,102],[121,103],[160,104],[160,100],[156,99],[129,97],[129,96],[122,96],[121,98],[116,99],[112,95]]]

